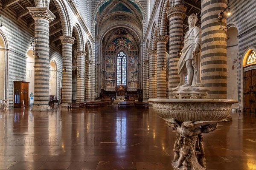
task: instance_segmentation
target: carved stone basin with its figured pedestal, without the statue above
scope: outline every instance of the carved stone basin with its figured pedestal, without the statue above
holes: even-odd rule
[[[187,89],[189,90],[189,89]],[[153,109],[177,132],[174,144],[174,170],[206,170],[202,133],[217,129],[227,121],[231,99],[149,99]]]

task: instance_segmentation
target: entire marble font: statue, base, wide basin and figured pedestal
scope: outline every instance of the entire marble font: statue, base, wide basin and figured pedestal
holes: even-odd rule
[[[149,99],[153,109],[175,130],[175,153],[172,166],[175,170],[206,170],[204,137],[225,122],[237,103],[231,99],[206,99],[209,89],[200,76],[201,29],[195,26],[197,17],[188,18],[189,31],[178,62],[180,84],[172,89],[174,99]],[[185,84],[185,75],[187,83]]]

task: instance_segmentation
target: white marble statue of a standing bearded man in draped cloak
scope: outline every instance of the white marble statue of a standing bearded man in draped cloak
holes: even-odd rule
[[[195,26],[197,17],[192,14],[188,18],[189,31],[184,37],[184,47],[178,61],[178,74],[180,75],[180,84],[177,86],[197,86],[203,87],[200,77],[200,51],[201,34],[200,28]],[[185,75],[187,75],[187,84],[185,85]]]

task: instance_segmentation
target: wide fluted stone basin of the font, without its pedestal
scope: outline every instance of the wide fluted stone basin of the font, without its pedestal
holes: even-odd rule
[[[219,121],[226,118],[237,103],[232,99],[149,99],[158,115],[170,122]]]

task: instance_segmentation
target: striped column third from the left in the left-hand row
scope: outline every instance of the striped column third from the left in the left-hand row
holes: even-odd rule
[[[77,58],[77,85],[76,102],[84,102],[84,58],[85,51],[76,51]]]

